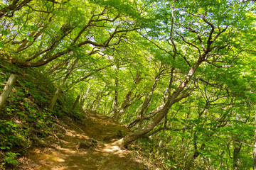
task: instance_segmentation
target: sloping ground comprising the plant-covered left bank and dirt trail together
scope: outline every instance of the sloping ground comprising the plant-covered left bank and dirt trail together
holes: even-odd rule
[[[110,145],[129,133],[124,125],[79,107],[72,110],[75,98],[68,93],[50,111],[55,92],[50,79],[5,60],[0,91],[11,74],[18,81],[0,113],[1,169],[148,169],[132,151]]]

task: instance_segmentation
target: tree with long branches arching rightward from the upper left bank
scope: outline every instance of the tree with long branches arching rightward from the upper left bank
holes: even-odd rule
[[[40,67],[69,54],[92,55],[97,47],[113,47],[127,32],[138,29],[132,5],[123,5],[127,11],[121,12],[108,1],[93,2],[40,1],[21,6],[15,16],[1,20],[1,55],[22,67]],[[50,11],[49,4],[53,4]]]

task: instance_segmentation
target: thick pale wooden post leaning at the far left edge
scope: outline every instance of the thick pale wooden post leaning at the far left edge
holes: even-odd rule
[[[18,79],[17,75],[11,74],[11,76],[9,77],[9,79],[7,81],[6,86],[4,86],[4,90],[0,96],[0,111],[4,108],[4,104],[6,103],[9,95],[11,94],[11,89],[13,89],[14,84],[17,79]]]

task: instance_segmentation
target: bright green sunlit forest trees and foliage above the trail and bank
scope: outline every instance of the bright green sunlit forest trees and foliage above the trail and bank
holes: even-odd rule
[[[154,141],[172,169],[251,169],[255,7],[240,0],[1,1],[0,57],[36,67],[59,93],[79,96],[80,108],[126,124],[133,132],[116,145]]]

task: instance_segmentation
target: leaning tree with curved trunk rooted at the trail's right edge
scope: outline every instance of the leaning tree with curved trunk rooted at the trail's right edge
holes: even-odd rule
[[[165,31],[163,34],[166,35],[159,35],[159,37],[166,39],[164,45],[169,45],[169,49],[165,50],[165,47],[159,44],[159,40],[151,38],[148,40],[166,52],[171,62],[168,97],[164,107],[148,125],[114,142],[124,147],[153,130],[168,114],[174,103],[188,97],[197,88],[196,81],[206,73],[207,70],[204,68],[208,65],[223,69],[233,67],[235,60],[246,51],[242,43],[235,42],[233,39],[240,33],[238,28],[246,29],[251,26],[242,27],[243,23],[237,22],[246,17],[245,4],[234,2],[234,8],[228,8],[228,11],[226,11],[227,6],[230,5],[228,1],[215,3],[210,1],[175,3],[173,1],[164,5],[159,2],[157,5],[162,7],[160,11],[163,12],[159,13],[159,16],[170,13],[169,21],[166,17],[163,20],[158,17],[159,22],[164,23],[162,29]],[[171,8],[170,12],[165,10],[167,6]],[[237,13],[240,13],[239,16]],[[152,28],[152,32],[154,31],[152,35],[156,35],[157,29],[159,28]],[[178,71],[183,73],[182,79],[175,79],[174,75]]]

